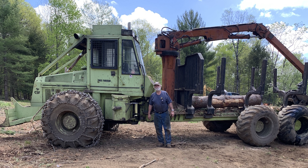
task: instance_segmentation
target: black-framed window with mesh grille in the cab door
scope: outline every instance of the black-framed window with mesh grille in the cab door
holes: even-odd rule
[[[92,68],[117,69],[117,40],[91,40]]]

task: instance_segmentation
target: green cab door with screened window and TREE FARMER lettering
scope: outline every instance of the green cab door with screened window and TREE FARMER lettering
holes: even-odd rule
[[[118,40],[91,39],[90,90],[118,91]]]

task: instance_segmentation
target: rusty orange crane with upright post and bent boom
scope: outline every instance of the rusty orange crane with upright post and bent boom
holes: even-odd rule
[[[238,34],[239,32],[252,32],[253,37],[268,40],[293,66],[302,74],[304,64],[300,62],[270,31],[269,27],[262,23],[245,23],[229,26],[203,27],[191,30],[162,31],[155,39],[155,52],[162,57],[163,74],[162,89],[166,90],[173,100],[175,65],[178,50],[181,48],[200,44],[202,41],[210,42],[224,39],[249,39],[250,34]],[[204,37],[203,40],[191,40],[192,37]],[[188,42],[182,39],[188,38]],[[187,41],[187,40],[186,40]]]

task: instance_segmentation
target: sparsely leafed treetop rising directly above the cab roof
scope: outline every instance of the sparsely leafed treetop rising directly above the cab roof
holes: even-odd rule
[[[120,18],[112,14],[112,8],[107,1],[85,1],[81,8],[82,20],[92,31],[92,25],[119,25]]]

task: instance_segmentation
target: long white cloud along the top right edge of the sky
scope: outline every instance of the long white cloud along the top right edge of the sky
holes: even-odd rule
[[[286,0],[268,0],[264,1],[251,1],[251,0],[242,0],[238,5],[241,10],[245,10],[247,8],[253,8],[259,10],[282,10],[286,7],[291,8],[308,8],[307,0],[293,0],[292,2]]]

